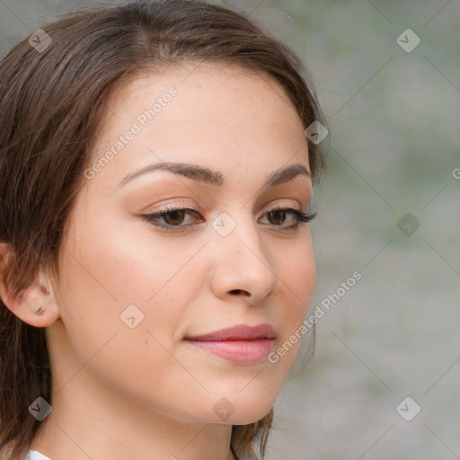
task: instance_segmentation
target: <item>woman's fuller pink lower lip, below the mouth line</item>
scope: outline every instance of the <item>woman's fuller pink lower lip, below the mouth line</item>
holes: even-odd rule
[[[273,339],[256,341],[190,341],[200,349],[205,349],[234,363],[254,363],[267,358],[273,346]]]

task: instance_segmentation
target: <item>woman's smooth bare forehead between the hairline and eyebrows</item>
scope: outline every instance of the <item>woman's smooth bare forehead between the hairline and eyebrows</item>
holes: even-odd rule
[[[308,167],[304,127],[288,95],[270,75],[240,66],[189,64],[119,84],[92,161],[110,150],[115,174],[162,159],[275,169],[296,155]]]

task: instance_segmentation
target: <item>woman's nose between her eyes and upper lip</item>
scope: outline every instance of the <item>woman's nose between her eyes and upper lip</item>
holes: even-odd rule
[[[223,236],[214,232],[209,244],[213,254],[211,289],[224,300],[243,297],[250,304],[258,304],[277,287],[271,248],[263,242],[261,230],[252,218],[240,218],[234,230]],[[273,243],[271,243],[273,244]],[[270,249],[273,252],[270,252]]]

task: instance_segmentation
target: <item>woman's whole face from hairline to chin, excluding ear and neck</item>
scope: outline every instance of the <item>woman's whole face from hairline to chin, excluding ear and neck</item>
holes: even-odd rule
[[[308,224],[270,214],[308,211],[305,127],[267,75],[192,70],[138,77],[108,103],[60,255],[55,388],[246,424],[279,394],[299,342],[267,355],[298,330],[314,288]],[[273,340],[186,340],[260,324]]]

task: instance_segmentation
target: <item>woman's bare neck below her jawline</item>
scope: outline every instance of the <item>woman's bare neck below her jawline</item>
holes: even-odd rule
[[[78,380],[53,395],[32,450],[51,460],[235,460],[232,425],[177,420]]]

